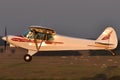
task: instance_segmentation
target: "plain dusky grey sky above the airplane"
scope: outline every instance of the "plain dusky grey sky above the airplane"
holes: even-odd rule
[[[5,27],[20,35],[31,25],[87,39],[112,26],[120,39],[120,0],[0,0],[0,35]]]

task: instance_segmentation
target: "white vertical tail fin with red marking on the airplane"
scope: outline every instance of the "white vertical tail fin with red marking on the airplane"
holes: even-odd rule
[[[115,49],[118,45],[116,31],[112,27],[108,27],[96,40],[97,44],[106,45],[109,49]]]

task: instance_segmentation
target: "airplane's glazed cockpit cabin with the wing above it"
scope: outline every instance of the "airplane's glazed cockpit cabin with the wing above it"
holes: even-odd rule
[[[28,39],[34,39],[37,40],[54,40],[54,35],[56,32],[52,29],[44,28],[41,26],[31,26],[29,30],[27,30],[23,36]],[[45,36],[46,35],[46,36]],[[45,37],[45,38],[44,38]]]

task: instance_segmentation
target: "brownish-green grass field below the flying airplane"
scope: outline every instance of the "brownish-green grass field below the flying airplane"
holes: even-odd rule
[[[39,55],[27,63],[25,50],[11,51],[0,53],[0,80],[120,80],[120,56]]]

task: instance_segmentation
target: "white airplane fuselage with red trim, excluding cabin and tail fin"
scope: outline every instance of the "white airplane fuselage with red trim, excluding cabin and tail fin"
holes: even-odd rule
[[[23,36],[8,36],[7,40],[11,45],[28,50],[36,50],[34,40]],[[55,35],[52,41],[43,41],[39,51],[62,51],[62,50],[101,50],[108,46],[96,44],[96,40],[87,40],[73,37]],[[37,40],[40,45],[41,40]]]

